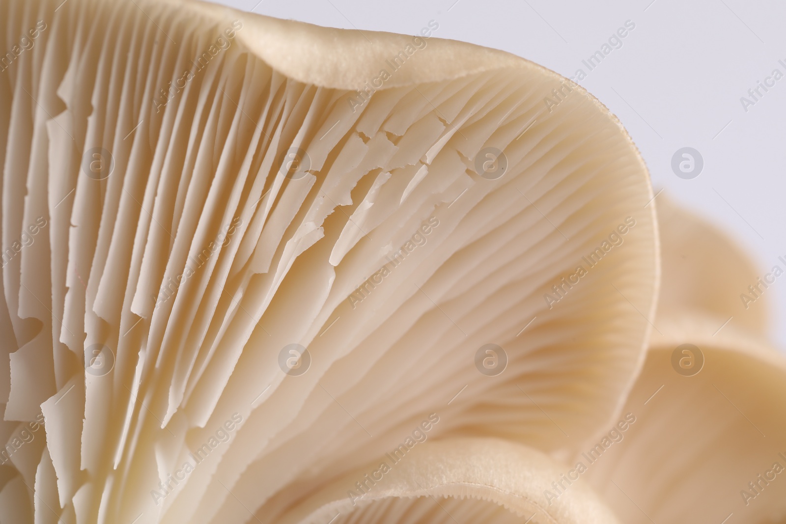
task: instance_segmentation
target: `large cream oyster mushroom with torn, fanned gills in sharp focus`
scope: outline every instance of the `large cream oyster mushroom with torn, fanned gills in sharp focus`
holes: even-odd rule
[[[522,502],[615,423],[652,330],[652,189],[602,104],[432,35],[0,9],[2,433],[35,434],[0,520],[291,519],[404,442],[378,504],[428,478],[495,522],[612,521],[589,488]]]

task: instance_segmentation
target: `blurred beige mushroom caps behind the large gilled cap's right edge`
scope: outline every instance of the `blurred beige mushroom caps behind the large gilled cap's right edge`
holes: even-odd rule
[[[714,226],[658,205],[657,331],[623,410],[637,423],[587,476],[624,522],[784,522],[786,359],[766,295],[740,298],[761,273]]]

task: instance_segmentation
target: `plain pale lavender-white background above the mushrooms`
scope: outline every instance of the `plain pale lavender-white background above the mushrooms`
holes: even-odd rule
[[[786,4],[744,0],[219,0],[237,9],[348,29],[417,35],[429,20],[438,38],[503,49],[579,81],[626,126],[656,191],[711,218],[744,246],[761,275],[786,258],[786,76],[747,111],[755,88],[786,75]],[[635,24],[589,71],[582,60],[626,20]],[[703,156],[697,178],[678,178],[683,147]],[[767,269],[766,269],[767,268]],[[751,283],[753,284],[753,283]],[[738,291],[739,293],[745,290]],[[786,349],[786,275],[765,291],[773,337]],[[733,320],[732,320],[733,322]]]

